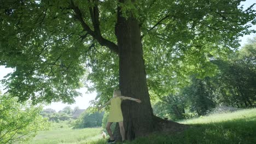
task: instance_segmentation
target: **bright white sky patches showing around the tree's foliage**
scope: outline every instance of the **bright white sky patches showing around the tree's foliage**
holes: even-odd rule
[[[242,2],[242,5],[244,5],[244,8],[248,8],[253,3],[255,3],[255,0],[247,0],[246,2]],[[254,5],[254,9],[256,10],[256,5]],[[250,29],[256,29],[256,26],[253,26]],[[247,43],[248,38],[253,38],[253,37],[256,37],[256,34],[244,35],[243,37],[241,37],[240,38],[241,39],[241,42],[240,42],[241,47]],[[5,68],[3,65],[0,65],[0,80],[2,80],[5,75],[7,75],[8,73],[11,73],[12,71],[13,71],[13,69]],[[1,85],[1,83],[0,83],[0,91],[5,92],[5,90],[3,90],[3,86]],[[74,104],[67,105],[67,104],[63,104],[61,102],[51,103],[50,105],[45,105],[44,109],[51,108],[56,111],[60,111],[65,106],[71,106],[72,109],[74,109],[75,106],[78,106],[80,109],[86,109],[90,105],[90,100],[95,99],[96,92],[86,94],[86,92],[87,92],[86,88],[80,88],[80,89],[78,89],[78,91],[80,93],[82,93],[82,97],[76,97]]]

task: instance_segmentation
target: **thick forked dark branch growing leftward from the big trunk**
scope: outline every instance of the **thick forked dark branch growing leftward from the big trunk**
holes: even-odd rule
[[[94,6],[93,10],[92,8],[89,8],[89,10],[91,9],[90,13],[92,16],[91,20],[94,26],[94,31],[92,31],[92,29],[85,23],[85,21],[83,20],[82,12],[77,6],[75,6],[72,0],[71,0],[71,8],[74,10],[75,17],[77,18],[77,20],[81,22],[84,31],[87,31],[88,34],[90,34],[94,39],[96,39],[100,45],[107,46],[110,50],[114,51],[115,53],[119,53],[118,46],[114,44],[112,41],[104,39],[100,33],[100,22],[98,21],[99,14],[98,14],[97,5]]]

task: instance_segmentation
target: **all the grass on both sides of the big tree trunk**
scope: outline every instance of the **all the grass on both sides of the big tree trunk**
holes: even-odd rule
[[[256,109],[221,113],[179,121],[189,129],[178,134],[152,134],[130,143],[256,143]],[[56,125],[55,125],[56,126]],[[58,126],[59,127],[59,126]],[[103,144],[101,128],[73,130],[54,128],[40,131],[31,143],[88,143]]]

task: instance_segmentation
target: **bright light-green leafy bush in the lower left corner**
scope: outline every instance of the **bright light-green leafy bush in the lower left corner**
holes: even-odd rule
[[[40,116],[41,106],[18,103],[18,98],[0,95],[0,141],[13,143],[36,136],[37,131],[48,129],[47,119]]]

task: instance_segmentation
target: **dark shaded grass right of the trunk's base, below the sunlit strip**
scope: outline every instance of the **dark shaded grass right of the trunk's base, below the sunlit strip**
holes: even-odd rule
[[[256,143],[256,116],[224,122],[189,124],[191,127],[179,134],[153,134],[129,143]],[[94,141],[90,144],[106,143]]]

